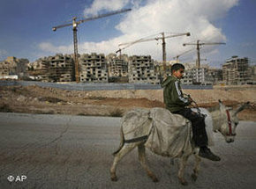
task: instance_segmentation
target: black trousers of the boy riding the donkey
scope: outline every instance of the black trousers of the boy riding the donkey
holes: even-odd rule
[[[208,145],[205,118],[203,116],[192,112],[190,108],[184,108],[173,113],[183,115],[187,120],[192,121],[192,140],[197,147]]]

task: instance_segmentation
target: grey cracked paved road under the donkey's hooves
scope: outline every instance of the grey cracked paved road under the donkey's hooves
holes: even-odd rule
[[[190,179],[191,158],[185,173],[189,185],[182,186],[177,180],[177,161],[170,166],[168,158],[148,150],[148,161],[159,183],[147,178],[136,150],[119,164],[119,180],[110,181],[111,153],[119,145],[119,121],[0,113],[0,188],[255,188],[255,122],[241,121],[237,140],[231,144],[216,134],[213,150],[222,161],[204,160],[194,183]],[[14,180],[8,181],[8,177]]]

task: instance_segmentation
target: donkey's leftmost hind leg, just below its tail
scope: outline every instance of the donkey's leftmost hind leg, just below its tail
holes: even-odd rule
[[[139,142],[134,142],[134,143],[129,143],[129,144],[124,144],[123,148],[120,149],[120,151],[115,155],[114,157],[114,162],[110,168],[110,174],[111,174],[111,180],[112,181],[117,181],[117,175],[116,175],[116,171],[117,171],[117,164],[118,162],[126,155],[128,154],[130,151],[132,151],[132,149],[134,149],[136,146],[138,146]]]

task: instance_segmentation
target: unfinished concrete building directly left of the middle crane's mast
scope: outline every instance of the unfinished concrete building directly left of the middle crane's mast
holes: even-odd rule
[[[154,60],[150,55],[129,57],[129,83],[132,84],[160,84],[155,72]]]

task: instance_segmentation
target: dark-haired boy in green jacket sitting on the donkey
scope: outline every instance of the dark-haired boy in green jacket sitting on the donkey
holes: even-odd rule
[[[194,113],[187,105],[192,103],[192,98],[184,98],[180,88],[180,79],[184,75],[184,65],[176,63],[171,67],[171,76],[168,76],[163,82],[163,99],[166,108],[170,113],[183,115],[184,118],[192,122],[192,140],[200,148],[199,156],[212,161],[220,161],[219,156],[215,156],[207,148],[207,132],[205,119],[199,113]]]

